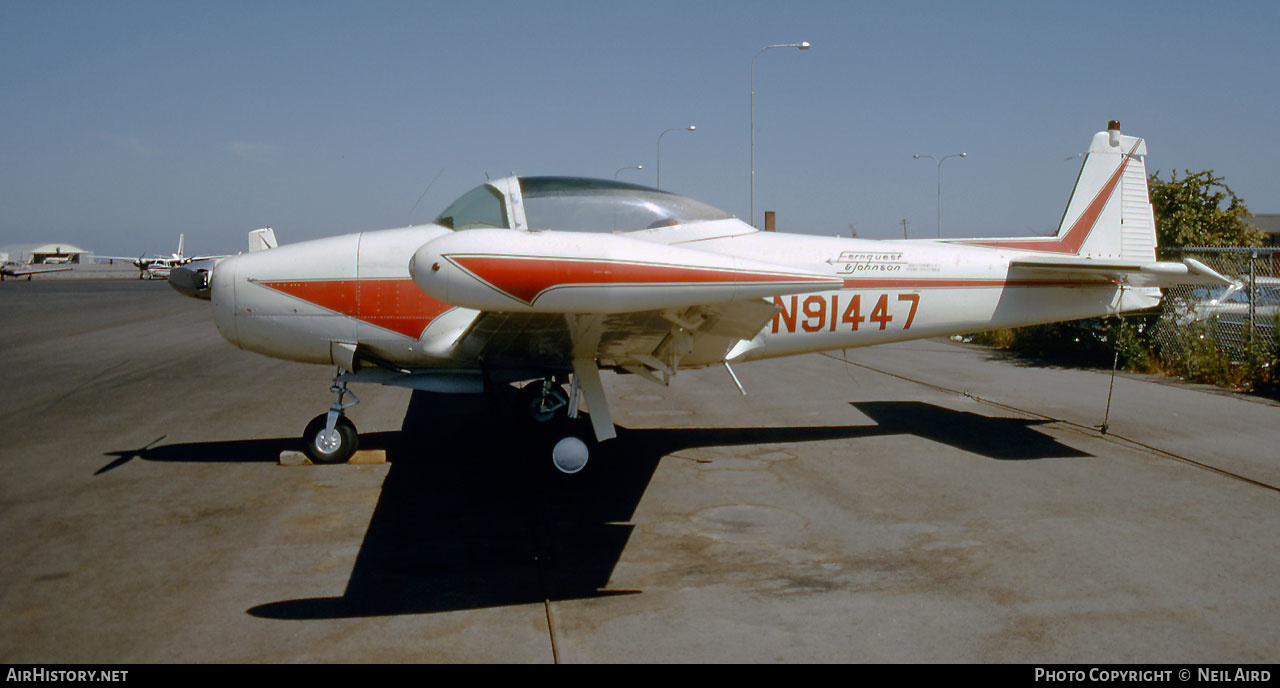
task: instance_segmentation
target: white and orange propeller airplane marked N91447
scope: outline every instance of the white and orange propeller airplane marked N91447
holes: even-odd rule
[[[1160,286],[1233,284],[1190,258],[1156,260],[1146,155],[1117,123],[1097,133],[1055,237],[767,233],[666,191],[511,176],[425,225],[227,258],[202,286],[237,347],[338,367],[333,405],[303,435],[316,462],[356,449],[348,382],[527,382],[520,398],[538,421],[577,417],[585,400],[593,432],[552,450],[576,472],[590,441],[616,436],[604,370],[658,384],[705,366],[733,375],[748,361],[1106,316],[1156,306]]]

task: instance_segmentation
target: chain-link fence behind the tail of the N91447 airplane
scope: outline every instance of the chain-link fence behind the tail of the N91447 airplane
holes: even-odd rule
[[[1160,258],[1196,258],[1239,281],[1233,288],[1165,289],[1161,315],[1151,332],[1162,358],[1194,368],[1202,361],[1252,363],[1276,353],[1280,248],[1162,249]]]

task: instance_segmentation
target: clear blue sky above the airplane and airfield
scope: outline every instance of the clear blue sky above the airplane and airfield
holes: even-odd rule
[[[654,183],[868,238],[1048,233],[1089,136],[1280,211],[1280,3],[0,3],[0,246],[241,251],[492,176]]]

